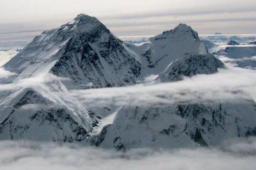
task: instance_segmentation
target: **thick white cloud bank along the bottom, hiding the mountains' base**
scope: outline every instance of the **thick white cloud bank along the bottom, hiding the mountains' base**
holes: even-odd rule
[[[128,150],[79,144],[0,141],[1,169],[254,169],[256,138],[233,139],[216,148]]]

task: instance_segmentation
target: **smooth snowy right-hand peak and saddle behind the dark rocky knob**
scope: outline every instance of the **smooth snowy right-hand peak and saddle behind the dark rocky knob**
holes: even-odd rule
[[[142,75],[158,74],[184,53],[206,54],[205,44],[190,26],[179,24],[172,30],[145,40],[142,44],[126,43],[126,47],[142,63]]]

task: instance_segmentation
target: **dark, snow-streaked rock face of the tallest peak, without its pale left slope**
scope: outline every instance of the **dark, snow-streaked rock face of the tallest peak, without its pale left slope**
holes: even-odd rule
[[[79,31],[69,39],[62,56],[50,72],[71,78],[79,88],[134,84],[140,75],[139,62],[123,48],[122,41],[98,20],[97,24],[93,23],[94,20],[97,19],[85,20],[82,17],[79,20]],[[93,26],[93,29],[83,31],[85,26]],[[92,83],[91,86],[86,86],[88,82]]]

